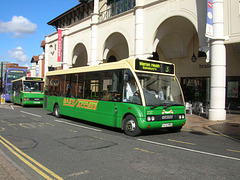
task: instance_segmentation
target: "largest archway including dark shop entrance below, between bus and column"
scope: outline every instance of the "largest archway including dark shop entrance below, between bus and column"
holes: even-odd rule
[[[166,19],[155,33],[153,52],[159,60],[176,65],[176,75],[185,100],[207,105],[210,97],[210,64],[206,63],[206,56],[199,53],[198,49],[197,30],[185,17]]]

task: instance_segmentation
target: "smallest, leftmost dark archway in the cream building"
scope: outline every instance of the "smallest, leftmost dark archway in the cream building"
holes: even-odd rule
[[[87,66],[88,56],[86,47],[79,43],[73,49],[72,67]]]

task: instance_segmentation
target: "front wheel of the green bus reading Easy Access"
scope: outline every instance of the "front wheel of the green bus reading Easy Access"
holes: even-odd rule
[[[133,115],[128,115],[123,123],[123,130],[128,136],[137,136],[141,133],[137,120]]]

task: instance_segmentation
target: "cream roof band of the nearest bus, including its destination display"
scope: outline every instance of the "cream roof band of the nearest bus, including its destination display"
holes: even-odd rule
[[[164,70],[168,67],[169,71]],[[132,69],[136,72],[147,72],[147,73],[161,73],[161,74],[175,74],[174,64],[162,61],[155,61],[149,59],[138,59],[129,58],[120,60],[117,62],[103,63],[94,66],[84,66],[77,68],[70,68],[66,70],[50,71],[46,73],[46,76],[63,75],[63,74],[74,74],[81,72],[94,72],[103,70],[113,70],[113,69]]]

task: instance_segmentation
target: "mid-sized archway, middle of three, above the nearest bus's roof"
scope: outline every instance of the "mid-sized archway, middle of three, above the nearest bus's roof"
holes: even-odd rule
[[[103,51],[103,62],[114,62],[129,57],[129,48],[126,38],[121,33],[111,34]]]

